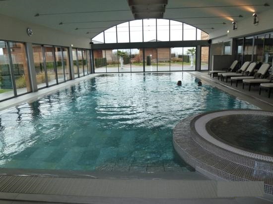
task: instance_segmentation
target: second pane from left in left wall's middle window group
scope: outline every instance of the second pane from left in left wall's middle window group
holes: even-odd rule
[[[46,59],[46,73],[48,79],[48,86],[57,84],[56,67],[54,60],[54,48],[46,46],[44,47],[45,59]]]

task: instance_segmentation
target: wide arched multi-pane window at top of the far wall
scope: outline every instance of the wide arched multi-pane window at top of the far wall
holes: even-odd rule
[[[95,36],[92,42],[98,44],[207,39],[207,33],[186,23],[168,19],[143,19],[113,26]]]

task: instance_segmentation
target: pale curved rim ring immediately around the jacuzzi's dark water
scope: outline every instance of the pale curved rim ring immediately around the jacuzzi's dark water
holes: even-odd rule
[[[227,116],[227,115],[264,115],[264,116],[273,116],[272,111],[266,110],[250,110],[250,109],[239,109],[239,110],[220,110],[220,111],[212,111],[207,112],[202,115],[199,115],[194,123],[195,131],[200,137],[208,141],[209,143],[222,148],[226,151],[237,153],[242,156],[246,156],[249,158],[260,159],[263,161],[273,162],[273,156],[248,152],[242,149],[235,148],[230,146],[222,141],[217,140],[215,137],[211,136],[206,130],[206,123],[211,119],[220,117],[220,116]]]

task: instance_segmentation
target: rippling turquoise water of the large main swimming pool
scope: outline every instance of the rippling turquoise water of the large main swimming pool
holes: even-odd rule
[[[2,111],[0,167],[192,171],[172,145],[181,119],[257,108],[198,81],[178,72],[101,75]]]

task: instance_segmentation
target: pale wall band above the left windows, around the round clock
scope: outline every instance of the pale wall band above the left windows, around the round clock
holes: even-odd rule
[[[29,37],[27,28],[31,28],[33,35]],[[73,36],[62,31],[54,30],[33,23],[28,23],[5,15],[0,15],[0,40],[21,41],[46,45],[66,46],[72,44],[74,48],[90,49],[89,38]]]

